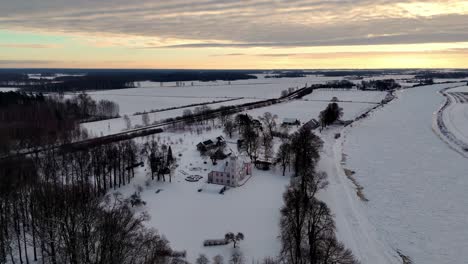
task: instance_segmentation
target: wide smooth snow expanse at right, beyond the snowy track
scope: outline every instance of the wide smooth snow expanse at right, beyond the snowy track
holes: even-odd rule
[[[414,263],[468,259],[468,162],[431,126],[444,101],[438,91],[453,86],[399,91],[397,100],[345,133],[345,167],[364,187],[369,223],[382,243]]]

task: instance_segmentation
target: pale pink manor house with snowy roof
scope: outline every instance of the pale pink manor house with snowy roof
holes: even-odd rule
[[[252,174],[252,164],[245,162],[237,156],[231,156],[226,162],[208,173],[208,183],[220,184],[229,187],[238,187],[246,176]]]

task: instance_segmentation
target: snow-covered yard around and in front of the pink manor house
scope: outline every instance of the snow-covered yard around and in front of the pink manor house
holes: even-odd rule
[[[172,183],[153,181],[146,186],[149,171],[141,169],[137,173],[133,185],[144,187],[142,199],[147,205],[141,210],[147,210],[151,216],[147,225],[164,234],[174,249],[187,250],[187,260],[192,263],[199,253],[210,259],[220,254],[228,261],[233,252],[232,244],[203,246],[205,239],[223,239],[227,232],[245,235],[245,240],[240,242],[240,250],[247,263],[276,256],[280,250],[277,236],[282,193],[289,177],[281,176],[280,172],[254,169],[253,176],[245,185],[230,189],[224,195],[219,194],[221,185],[205,183],[213,165],[207,157],[200,156],[196,144],[221,134],[221,129],[214,129],[202,135],[189,132],[157,135],[161,142],[172,142],[179,166]],[[235,139],[228,139],[228,142],[235,142]],[[236,152],[236,144],[228,143],[228,146]],[[189,175],[201,175],[203,178],[199,182],[185,181]],[[135,191],[134,186],[123,187],[119,192],[129,196]],[[202,192],[198,192],[200,188],[203,188]]]

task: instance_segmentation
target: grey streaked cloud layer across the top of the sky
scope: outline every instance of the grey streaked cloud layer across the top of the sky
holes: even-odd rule
[[[3,29],[131,35],[165,48],[463,42],[467,21],[468,1],[451,0],[0,2]]]

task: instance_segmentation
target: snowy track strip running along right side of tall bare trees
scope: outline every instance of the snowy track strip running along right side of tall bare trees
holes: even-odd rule
[[[363,263],[401,263],[396,251],[378,237],[369,222],[365,204],[356,195],[355,186],[344,174],[340,164],[341,140],[333,138],[340,128],[321,134],[324,140],[319,170],[328,174],[329,185],[320,195],[335,215],[337,236]]]

